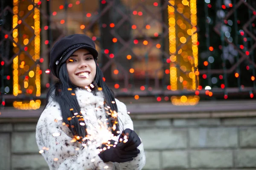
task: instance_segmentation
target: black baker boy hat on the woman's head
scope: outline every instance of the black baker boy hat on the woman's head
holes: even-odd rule
[[[78,49],[86,49],[94,59],[98,59],[98,52],[93,40],[84,34],[73,34],[58,40],[50,52],[50,71],[58,77],[61,65]]]

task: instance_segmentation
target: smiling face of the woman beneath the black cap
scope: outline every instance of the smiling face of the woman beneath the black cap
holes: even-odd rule
[[[70,81],[81,88],[89,86],[96,75],[96,63],[86,49],[74,52],[66,61]]]

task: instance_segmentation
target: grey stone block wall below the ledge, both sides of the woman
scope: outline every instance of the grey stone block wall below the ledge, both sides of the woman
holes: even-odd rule
[[[48,170],[36,122],[0,123],[0,170]],[[145,170],[256,169],[256,117],[136,120]]]

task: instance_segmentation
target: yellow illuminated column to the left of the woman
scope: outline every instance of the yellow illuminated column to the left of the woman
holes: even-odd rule
[[[16,42],[13,43],[13,51],[17,54],[13,59],[14,96],[41,95],[41,71],[40,65],[36,63],[40,59],[40,10],[36,6],[38,2],[39,0],[34,0],[32,5],[27,1],[19,3],[19,0],[13,0],[13,40]],[[22,110],[38,109],[40,105],[40,100],[13,102],[15,108]]]

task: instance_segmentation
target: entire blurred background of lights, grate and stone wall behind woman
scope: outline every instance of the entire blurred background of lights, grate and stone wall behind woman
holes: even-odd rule
[[[0,0],[0,170],[48,170],[49,51],[86,34],[145,170],[256,168],[255,0]]]

